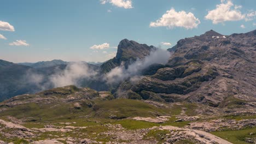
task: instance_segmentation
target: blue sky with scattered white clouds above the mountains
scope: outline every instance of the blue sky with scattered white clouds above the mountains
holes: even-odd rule
[[[124,38],[167,49],[210,29],[245,33],[256,29],[255,5],[255,0],[1,1],[0,59],[103,62],[115,56]]]

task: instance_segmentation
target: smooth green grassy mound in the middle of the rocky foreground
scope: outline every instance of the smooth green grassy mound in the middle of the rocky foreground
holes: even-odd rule
[[[155,117],[168,115],[170,109],[162,109],[153,105],[132,99],[113,99],[96,101],[93,107],[94,117],[99,118],[127,118],[127,117]]]

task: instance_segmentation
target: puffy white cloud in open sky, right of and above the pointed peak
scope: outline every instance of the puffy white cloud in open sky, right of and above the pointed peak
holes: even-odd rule
[[[164,15],[156,22],[150,22],[150,27],[184,27],[187,29],[196,28],[200,24],[193,13],[186,13],[185,11],[175,11],[175,9],[167,10]]]

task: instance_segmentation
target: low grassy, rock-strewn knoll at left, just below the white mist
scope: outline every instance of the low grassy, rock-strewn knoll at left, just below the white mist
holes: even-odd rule
[[[74,103],[74,107],[79,107],[78,102],[100,97],[99,93],[91,88],[77,88],[73,85],[49,89],[36,94],[24,94],[13,97],[0,104],[0,107],[13,107],[29,103],[55,104]]]

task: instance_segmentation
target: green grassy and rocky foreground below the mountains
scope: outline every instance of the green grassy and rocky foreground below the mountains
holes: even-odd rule
[[[255,111],[232,110],[66,86],[0,103],[0,142],[255,143]]]

